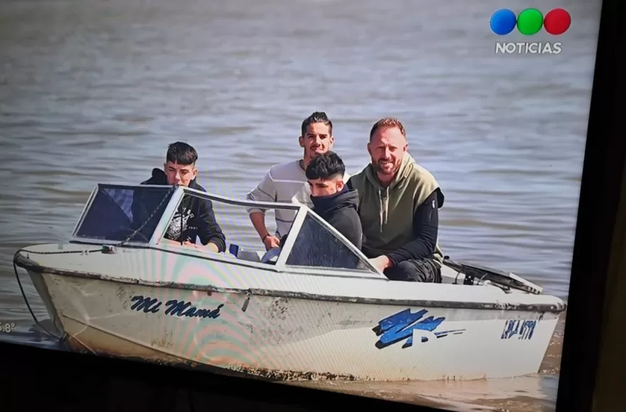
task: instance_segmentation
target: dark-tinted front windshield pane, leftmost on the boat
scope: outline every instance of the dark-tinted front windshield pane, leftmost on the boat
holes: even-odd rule
[[[97,185],[73,238],[147,244],[174,195],[169,186]]]

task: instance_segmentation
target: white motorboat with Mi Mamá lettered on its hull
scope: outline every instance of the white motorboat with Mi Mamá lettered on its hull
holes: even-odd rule
[[[138,193],[159,198],[139,227]],[[233,253],[164,239],[184,196],[211,200]],[[245,207],[295,213],[277,259],[235,243],[250,227],[262,249]],[[277,380],[534,374],[566,308],[512,273],[449,259],[442,283],[389,281],[307,206],[178,186],[97,185],[69,242],[14,263],[74,350]]]

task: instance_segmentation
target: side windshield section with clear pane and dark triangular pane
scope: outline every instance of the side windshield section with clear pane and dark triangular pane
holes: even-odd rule
[[[208,203],[205,203],[207,200]],[[176,229],[173,231],[176,232],[176,236],[181,232],[179,227],[197,227],[197,223],[200,223],[197,216],[207,218],[206,212],[198,208],[198,205],[209,205],[215,220],[202,222],[203,226],[210,232],[211,227],[218,224],[226,238],[226,250],[236,255],[238,259],[270,266],[285,265],[291,271],[352,269],[375,272],[365,256],[359,253],[359,249],[347,239],[341,239],[341,235],[338,235],[333,227],[309,208],[297,204],[234,200],[184,188],[179,210],[176,210],[171,220],[167,222],[170,228]],[[197,211],[193,212],[196,209]],[[270,234],[275,234],[276,230],[280,231],[281,228],[287,230],[287,233],[279,234],[281,242],[279,247],[269,252],[265,251],[259,234],[250,222],[251,212],[265,214],[265,226]],[[195,223],[186,220],[187,216],[189,219],[195,219]],[[284,224],[288,221],[291,224]],[[277,222],[283,224],[277,227]],[[164,233],[165,239],[172,239],[168,232]],[[214,235],[202,233],[199,227],[196,232],[198,234],[196,244],[211,242],[209,238]],[[219,240],[216,239],[216,242],[219,243]]]

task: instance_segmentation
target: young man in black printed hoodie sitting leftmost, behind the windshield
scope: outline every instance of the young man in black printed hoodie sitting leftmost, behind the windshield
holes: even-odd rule
[[[154,168],[152,178],[144,180],[141,184],[181,185],[206,192],[201,185],[196,183],[197,160],[198,153],[189,144],[180,141],[171,143],[167,148],[164,170]],[[149,198],[152,196],[147,196],[147,193],[142,194],[140,198],[137,195],[139,192],[135,193],[132,205],[135,225],[143,224],[158,205],[158,202],[155,203],[157,199]],[[176,210],[164,238],[180,242],[184,246],[200,248],[201,246],[196,244],[196,237],[199,237],[201,244],[211,251],[226,250],[226,237],[216,222],[211,200],[187,194],[181,201],[179,209]]]

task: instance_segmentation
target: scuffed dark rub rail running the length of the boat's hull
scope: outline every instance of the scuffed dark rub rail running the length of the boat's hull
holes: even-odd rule
[[[152,248],[151,248],[152,249]],[[479,310],[515,310],[520,312],[539,312],[539,313],[562,313],[567,309],[567,303],[561,301],[560,304],[549,303],[484,303],[484,302],[459,302],[457,300],[413,300],[413,299],[389,299],[389,298],[361,298],[350,296],[333,296],[320,295],[317,293],[291,292],[291,291],[275,291],[270,289],[253,289],[253,288],[221,288],[211,285],[198,285],[196,283],[179,283],[173,281],[147,281],[137,278],[111,277],[102,275],[101,273],[92,273],[86,271],[75,271],[71,269],[54,269],[47,266],[37,264],[32,259],[23,256],[22,252],[28,253],[28,250],[18,250],[14,256],[14,264],[20,266],[26,271],[36,273],[48,273],[58,276],[68,276],[71,278],[87,278],[98,281],[110,281],[114,283],[125,283],[139,286],[149,286],[157,288],[174,288],[186,291],[201,291],[211,293],[236,293],[248,296],[272,296],[275,298],[290,299],[307,299],[322,300],[327,302],[341,303],[364,303],[367,305],[393,305],[393,306],[410,306],[425,308],[444,308],[444,309],[479,309]],[[34,251],[33,253],[37,253]],[[349,276],[354,277],[354,276]],[[372,281],[384,281],[378,278],[359,278]],[[481,286],[477,286],[481,287]],[[484,287],[484,286],[482,286]],[[531,293],[527,293],[532,295]],[[556,296],[555,296],[556,297]]]

